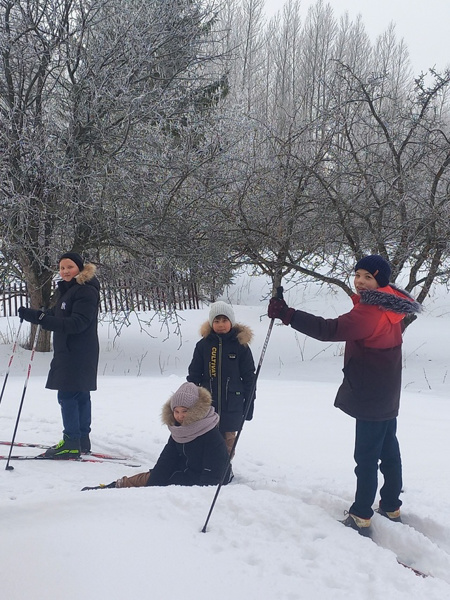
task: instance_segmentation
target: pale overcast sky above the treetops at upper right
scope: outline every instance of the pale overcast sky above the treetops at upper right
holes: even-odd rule
[[[314,3],[302,0],[303,15]],[[266,0],[268,16],[283,4],[283,0]],[[416,75],[433,66],[441,71],[450,66],[450,0],[329,0],[328,4],[337,17],[347,11],[353,20],[361,14],[372,40],[394,22],[398,39],[403,38],[408,46]]]

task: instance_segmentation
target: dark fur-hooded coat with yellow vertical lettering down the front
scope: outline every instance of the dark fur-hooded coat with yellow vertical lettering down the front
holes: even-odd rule
[[[200,329],[202,339],[197,342],[189,365],[187,380],[211,392],[213,406],[220,416],[220,431],[238,431],[246,410],[247,420],[253,417],[253,398],[250,395],[255,382],[255,363],[249,344],[252,331],[237,323],[226,334],[214,333],[209,322]]]

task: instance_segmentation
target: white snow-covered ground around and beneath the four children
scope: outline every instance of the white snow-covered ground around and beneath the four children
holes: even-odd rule
[[[253,328],[256,362],[269,325],[266,289],[262,280],[243,278],[228,296],[238,321]],[[351,307],[343,294],[314,285],[291,292],[287,300],[330,317]],[[119,337],[111,324],[102,323],[93,449],[130,456],[142,467],[15,461],[9,472],[0,463],[1,598],[450,598],[446,290],[426,309],[404,343],[399,439],[406,524],[376,515],[377,543],[337,521],[355,488],[354,422],[333,407],[342,345],[306,339],[279,325],[261,369],[255,417],[237,448],[235,479],[222,488],[206,533],[201,529],[215,488],[81,492],[85,485],[109,483],[154,464],[168,438],[161,406],[184,381],[208,309],[180,313],[181,338],[168,337],[156,320],[148,335],[132,317]],[[0,345],[2,378],[15,328],[16,319],[0,319],[7,342]],[[29,357],[20,348],[14,358],[0,405],[1,440],[12,437]],[[56,394],[44,387],[50,358],[35,356],[18,442],[53,444],[61,437]],[[0,446],[1,454],[8,451]],[[396,556],[430,577],[417,577]]]

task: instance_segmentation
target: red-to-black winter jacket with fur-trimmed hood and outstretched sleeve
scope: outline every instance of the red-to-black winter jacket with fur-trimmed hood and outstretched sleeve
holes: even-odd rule
[[[365,421],[398,415],[402,370],[402,326],[420,311],[409,294],[393,285],[353,296],[353,309],[337,319],[296,311],[291,326],[322,341],[345,341],[344,380],[335,406]]]

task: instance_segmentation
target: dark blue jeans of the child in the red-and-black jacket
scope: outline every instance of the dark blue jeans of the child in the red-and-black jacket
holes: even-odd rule
[[[356,420],[355,474],[356,495],[349,512],[363,519],[373,515],[372,505],[378,488],[378,461],[384,477],[380,507],[391,512],[402,502],[402,461],[397,440],[397,419],[389,421]]]

